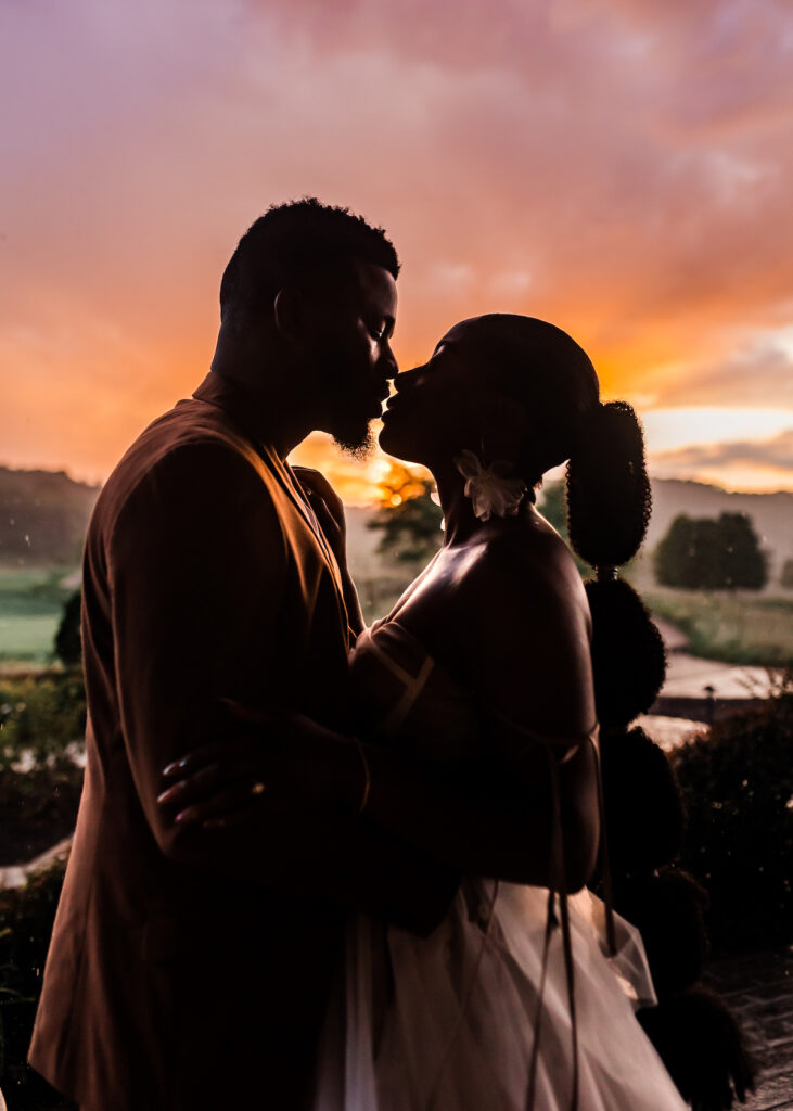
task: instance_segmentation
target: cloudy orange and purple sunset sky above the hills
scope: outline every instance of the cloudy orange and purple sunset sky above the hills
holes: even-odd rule
[[[393,238],[403,367],[543,317],[653,473],[793,490],[790,0],[0,0],[0,463],[107,477],[309,193]]]

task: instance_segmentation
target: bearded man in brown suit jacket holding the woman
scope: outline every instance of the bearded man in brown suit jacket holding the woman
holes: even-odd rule
[[[396,372],[398,273],[347,210],[268,211],[223,276],[210,374],[98,501],[86,785],[30,1051],[83,1111],[307,1105],[345,908],[424,932],[450,899],[414,850],[259,783],[257,843],[157,805],[164,764],[244,728],[230,701],[345,728],[360,611],[287,456],[312,429],[365,444]]]

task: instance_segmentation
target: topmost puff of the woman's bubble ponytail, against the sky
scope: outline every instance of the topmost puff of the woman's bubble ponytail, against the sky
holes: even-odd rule
[[[594,406],[568,463],[570,542],[592,567],[621,567],[648,531],[652,496],[644,436],[626,401]]]

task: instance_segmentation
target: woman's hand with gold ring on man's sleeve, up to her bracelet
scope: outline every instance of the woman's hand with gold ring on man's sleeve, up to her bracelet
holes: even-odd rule
[[[164,789],[157,801],[174,812],[178,824],[242,823],[270,800],[300,805],[357,798],[348,751],[353,743],[347,738],[304,714],[262,714],[227,704],[238,722],[230,735],[193,749],[162,771]]]

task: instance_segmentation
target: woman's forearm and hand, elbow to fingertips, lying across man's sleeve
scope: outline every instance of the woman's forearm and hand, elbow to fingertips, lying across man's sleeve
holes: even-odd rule
[[[292,809],[311,813],[329,803],[363,817],[459,871],[515,883],[549,882],[551,791],[536,790],[506,773],[504,785],[443,783],[436,765],[400,751],[359,744],[302,715],[282,719],[272,734],[251,737],[245,749],[227,741],[185,758],[180,778],[160,795],[178,827],[223,829],[238,822],[249,834],[269,828],[270,810],[291,798]],[[233,760],[233,777],[227,761]],[[558,769],[562,798],[566,887],[581,888],[591,871],[591,831],[570,797],[589,782],[593,753],[582,745]],[[365,764],[364,764],[365,761]],[[251,799],[251,783],[264,790]]]

